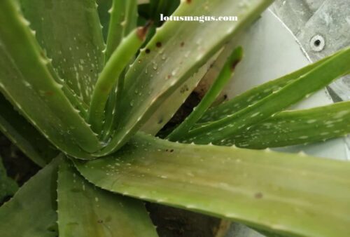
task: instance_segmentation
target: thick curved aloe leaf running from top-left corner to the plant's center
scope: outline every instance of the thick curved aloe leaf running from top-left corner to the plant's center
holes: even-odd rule
[[[101,144],[53,78],[27,24],[15,1],[1,1],[1,93],[59,149],[87,158],[85,151]]]

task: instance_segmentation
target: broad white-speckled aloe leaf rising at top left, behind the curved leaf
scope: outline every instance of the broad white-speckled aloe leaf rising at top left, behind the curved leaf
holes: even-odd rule
[[[89,104],[104,65],[105,46],[96,2],[20,0],[20,6],[36,31],[38,43],[52,58],[55,72]]]

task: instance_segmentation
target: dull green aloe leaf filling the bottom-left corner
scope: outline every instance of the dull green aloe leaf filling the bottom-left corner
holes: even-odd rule
[[[57,169],[56,158],[23,185],[0,208],[1,237],[57,236]]]

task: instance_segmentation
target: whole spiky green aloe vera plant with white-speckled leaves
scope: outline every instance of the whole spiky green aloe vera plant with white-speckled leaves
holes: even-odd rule
[[[350,74],[350,48],[214,105],[244,55],[226,43],[271,3],[186,0],[174,15],[239,21],[152,25],[135,0],[0,1],[0,130],[42,167],[1,206],[0,236],[157,236],[143,201],[267,236],[349,236],[350,163],[265,148],[350,133],[350,102],[286,111]]]

